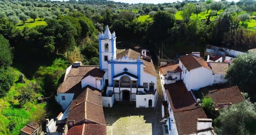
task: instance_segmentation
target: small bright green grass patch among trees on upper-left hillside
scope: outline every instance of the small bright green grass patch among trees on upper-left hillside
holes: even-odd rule
[[[33,19],[29,19],[28,21],[25,22],[25,24],[23,24],[23,22],[20,21],[20,23],[17,24],[17,28],[18,29],[23,29],[25,27],[34,28],[36,26],[46,26],[46,25],[47,23],[45,21],[41,21],[40,19],[36,19],[35,22]]]

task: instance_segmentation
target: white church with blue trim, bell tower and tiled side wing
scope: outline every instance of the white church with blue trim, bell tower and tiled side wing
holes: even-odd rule
[[[117,53],[116,35],[108,26],[99,35],[99,66],[70,65],[57,90],[56,101],[63,110],[87,87],[102,93],[103,107],[114,102],[136,102],[136,107],[155,107],[157,73],[148,50],[126,49]]]

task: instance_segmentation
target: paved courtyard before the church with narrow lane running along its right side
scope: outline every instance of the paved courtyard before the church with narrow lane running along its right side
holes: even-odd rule
[[[157,78],[159,83],[159,77]],[[115,102],[112,108],[104,108],[107,134],[163,134],[161,103],[163,93],[158,84],[156,107],[136,108],[135,102]]]

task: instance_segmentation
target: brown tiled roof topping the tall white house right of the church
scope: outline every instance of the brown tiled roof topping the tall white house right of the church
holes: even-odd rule
[[[206,69],[210,69],[206,61],[204,61],[200,57],[193,56],[192,54],[181,56],[179,60],[186,67],[188,71],[197,69],[198,67],[205,67]]]

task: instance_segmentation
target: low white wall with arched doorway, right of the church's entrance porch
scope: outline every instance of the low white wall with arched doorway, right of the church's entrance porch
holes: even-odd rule
[[[152,107],[155,107],[155,96],[153,94],[136,95],[136,107],[146,107],[147,108],[149,99],[152,100]]]

